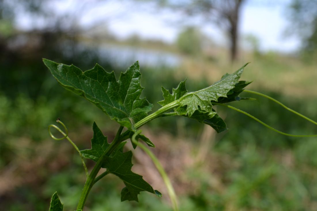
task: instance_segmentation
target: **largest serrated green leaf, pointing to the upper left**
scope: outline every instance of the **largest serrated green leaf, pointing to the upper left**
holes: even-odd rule
[[[140,99],[143,87],[140,84],[139,62],[121,73],[118,81],[114,72],[108,73],[98,64],[83,72],[74,65],[58,64],[47,59],[43,62],[61,86],[86,98],[129,130],[134,130],[129,118],[138,122],[152,110],[152,104],[145,98]]]

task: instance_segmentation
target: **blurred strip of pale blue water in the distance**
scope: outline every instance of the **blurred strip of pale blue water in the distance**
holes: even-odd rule
[[[180,56],[173,53],[131,46],[103,44],[98,47],[98,50],[101,59],[105,58],[117,67],[127,67],[135,61],[139,61],[141,66],[177,67],[182,60]]]

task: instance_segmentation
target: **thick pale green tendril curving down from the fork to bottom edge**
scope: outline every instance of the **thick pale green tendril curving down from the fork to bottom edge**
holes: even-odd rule
[[[162,179],[166,185],[168,195],[170,196],[171,202],[173,204],[173,209],[174,209],[174,211],[178,211],[177,197],[176,197],[174,188],[173,188],[172,183],[171,183],[169,177],[167,176],[163,166],[159,162],[159,159],[148,148],[146,148],[146,146],[144,144],[141,144],[140,142],[135,140],[135,137],[137,135],[139,135],[141,132],[142,132],[141,130],[135,132],[133,134],[131,140],[133,141],[134,144],[138,145],[143,151],[145,151],[146,154],[152,159],[152,162],[154,163],[156,169],[158,169],[158,171],[161,174]]]

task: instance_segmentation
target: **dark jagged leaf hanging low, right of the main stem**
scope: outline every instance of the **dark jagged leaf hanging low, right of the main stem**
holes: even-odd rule
[[[125,153],[118,151],[113,157],[106,157],[102,164],[103,168],[107,168],[109,173],[118,176],[126,185],[121,191],[121,201],[139,201],[138,194],[141,191],[148,191],[157,195],[157,192],[149,183],[143,180],[142,176],[131,171],[133,166],[131,160],[131,151]]]

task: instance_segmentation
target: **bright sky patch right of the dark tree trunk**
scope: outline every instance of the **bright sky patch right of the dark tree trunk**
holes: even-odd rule
[[[260,2],[260,1],[258,1]],[[263,5],[247,2],[243,7],[241,17],[241,34],[256,35],[264,50],[296,51],[300,46],[300,39],[294,36],[286,36],[286,29],[290,22],[287,20],[286,7],[290,3],[280,1],[275,5]]]

